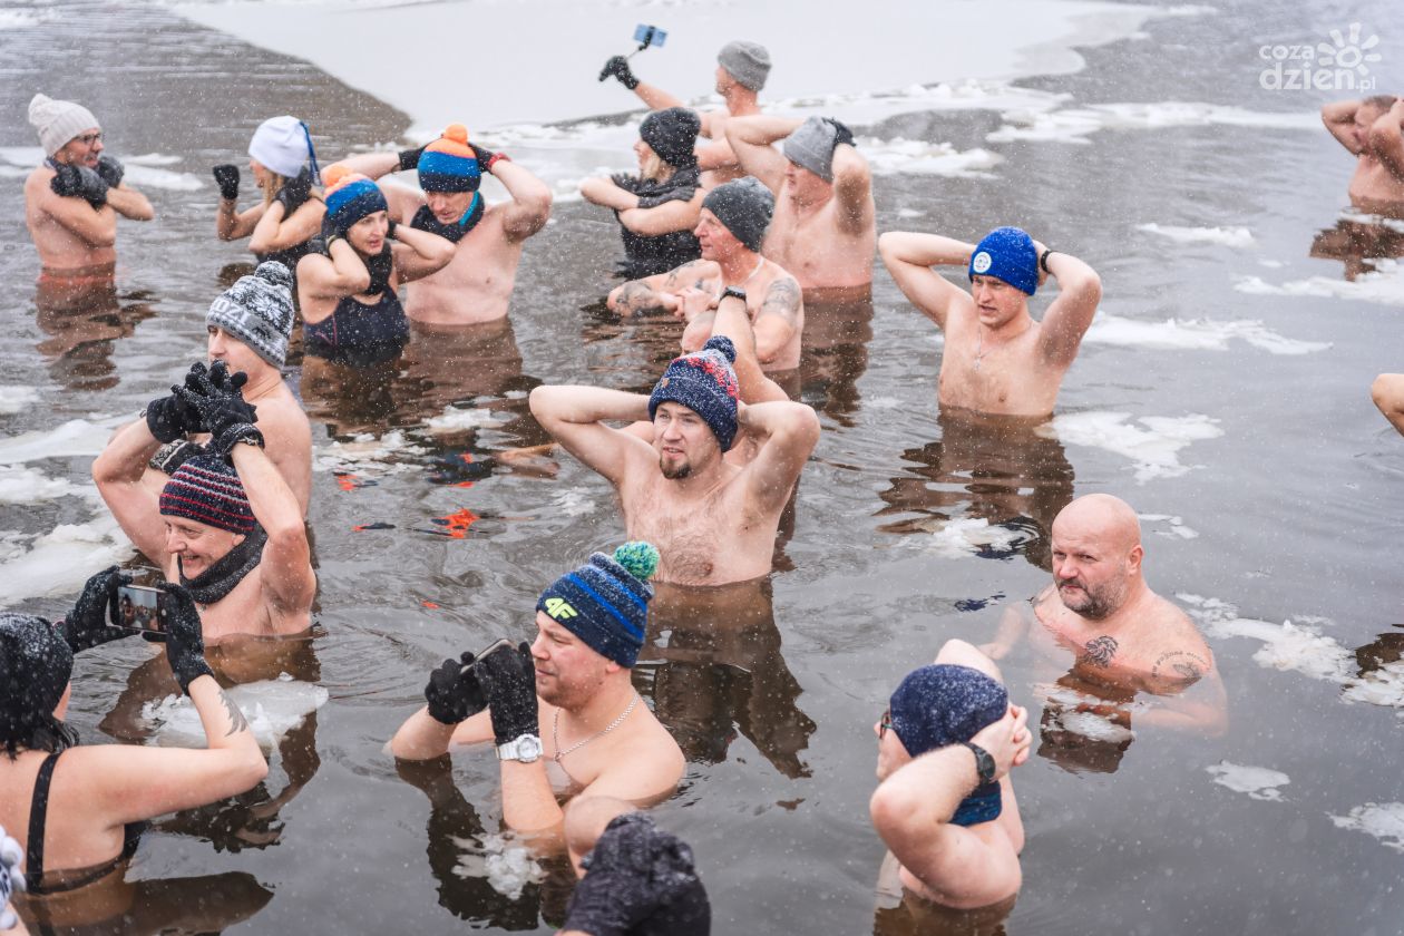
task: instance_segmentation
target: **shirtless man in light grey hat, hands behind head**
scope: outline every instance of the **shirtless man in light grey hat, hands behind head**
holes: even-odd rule
[[[783,156],[771,146],[783,138]],[[878,240],[872,173],[854,135],[838,121],[740,116],[726,139],[741,171],[775,194],[775,218],[761,253],[802,289],[862,288],[873,281]]]

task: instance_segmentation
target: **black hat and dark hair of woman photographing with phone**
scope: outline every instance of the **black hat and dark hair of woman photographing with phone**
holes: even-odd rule
[[[73,651],[53,626],[32,615],[0,613],[0,745],[63,751],[77,733],[53,716],[73,672]]]

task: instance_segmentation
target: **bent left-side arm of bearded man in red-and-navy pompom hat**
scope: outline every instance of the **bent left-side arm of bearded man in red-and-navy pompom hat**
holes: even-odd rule
[[[647,420],[649,397],[640,393],[541,386],[531,392],[529,404],[532,415],[552,438],[615,484],[623,480],[630,459],[651,456],[647,442],[604,424],[604,420]]]

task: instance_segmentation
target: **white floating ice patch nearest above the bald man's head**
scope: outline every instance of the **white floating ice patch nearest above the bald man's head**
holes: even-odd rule
[[[1219,421],[1193,413],[1182,417],[1146,415],[1141,427],[1127,422],[1130,413],[1067,413],[1045,422],[1035,432],[1123,455],[1136,463],[1136,481],[1144,484],[1158,477],[1178,477],[1191,466],[1179,463],[1179,450],[1191,442],[1223,435]]]

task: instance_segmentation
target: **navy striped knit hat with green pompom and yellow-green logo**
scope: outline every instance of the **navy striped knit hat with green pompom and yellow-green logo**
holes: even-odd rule
[[[621,667],[633,667],[643,647],[653,587],[647,578],[658,567],[650,543],[625,543],[614,559],[592,553],[590,561],[566,573],[536,601],[536,610],[576,634],[597,654]]]

